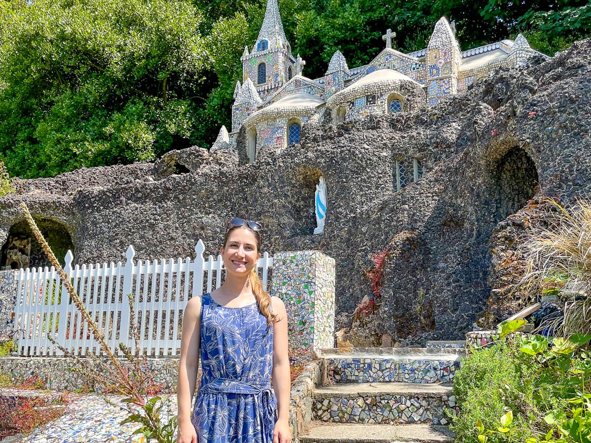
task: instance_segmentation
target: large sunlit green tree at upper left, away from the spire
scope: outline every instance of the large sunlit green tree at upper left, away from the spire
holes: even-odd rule
[[[177,0],[43,0],[2,15],[0,155],[9,171],[151,160],[194,142],[195,91],[211,63],[201,21]]]

